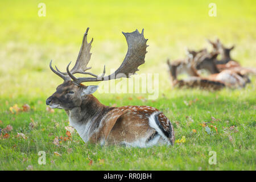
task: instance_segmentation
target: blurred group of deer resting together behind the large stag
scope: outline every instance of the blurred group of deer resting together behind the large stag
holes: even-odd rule
[[[250,82],[249,74],[255,74],[256,69],[245,68],[230,57],[230,51],[234,46],[227,48],[220,40],[212,42],[213,51],[207,49],[192,51],[187,49],[187,57],[184,60],[167,60],[173,86],[187,88],[201,88],[219,90],[224,87],[242,88]],[[220,59],[217,56],[220,54]],[[200,75],[201,70],[206,70],[210,75]],[[180,73],[187,73],[185,79],[177,79]]]

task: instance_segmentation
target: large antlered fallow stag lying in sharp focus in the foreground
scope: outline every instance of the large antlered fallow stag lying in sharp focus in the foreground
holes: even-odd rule
[[[144,63],[146,42],[143,30],[125,35],[128,51],[120,67],[111,75],[101,76],[85,72],[90,60],[92,41],[87,42],[87,28],[79,56],[75,66],[67,72],[60,72],[49,67],[56,75],[63,78],[63,84],[57,86],[56,92],[47,98],[46,104],[52,108],[64,109],[68,114],[71,126],[75,127],[84,142],[103,144],[125,144],[125,146],[147,147],[155,144],[174,144],[174,128],[169,119],[158,109],[150,106],[105,106],[92,95],[98,86],[82,85],[82,82],[107,81],[122,77],[129,77],[138,71],[139,65]],[[75,73],[92,77],[75,77]]]

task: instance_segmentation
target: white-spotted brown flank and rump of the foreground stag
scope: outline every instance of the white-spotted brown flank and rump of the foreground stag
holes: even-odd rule
[[[131,147],[174,144],[174,131],[171,122],[154,107],[123,106],[113,109],[109,114],[118,115],[112,132],[110,132],[109,142]],[[113,135],[115,136],[114,141],[112,141]]]

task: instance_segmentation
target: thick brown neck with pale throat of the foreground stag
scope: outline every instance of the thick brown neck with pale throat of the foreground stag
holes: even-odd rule
[[[104,122],[102,118],[112,108],[101,104],[93,95],[86,95],[82,100],[81,106],[66,110],[66,112],[70,125],[77,130],[85,142],[88,142],[94,131],[102,126],[101,122]]]

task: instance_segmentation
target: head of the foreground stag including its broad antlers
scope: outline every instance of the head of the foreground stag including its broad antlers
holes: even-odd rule
[[[74,107],[78,107],[81,105],[82,101],[86,100],[86,96],[94,93],[98,88],[96,85],[85,86],[81,84],[82,82],[106,81],[122,77],[129,78],[139,70],[139,65],[144,63],[144,57],[147,52],[147,39],[144,39],[143,30],[141,34],[138,30],[131,33],[123,32],[128,44],[128,51],[120,67],[109,76],[105,76],[105,65],[100,76],[86,72],[88,69],[92,68],[87,67],[92,55],[90,48],[93,42],[93,39],[89,43],[87,42],[88,30],[89,28],[87,28],[84,38],[82,39],[82,46],[76,64],[71,70],[69,70],[71,62],[67,65],[67,72],[61,72],[57,67],[55,67],[56,70],[53,69],[52,61],[49,64],[52,72],[64,80],[63,84],[57,86],[56,92],[46,100],[46,104],[52,108],[70,110]],[[91,77],[77,78],[74,76],[75,73],[81,73]]]

